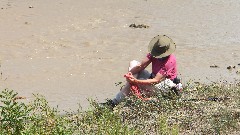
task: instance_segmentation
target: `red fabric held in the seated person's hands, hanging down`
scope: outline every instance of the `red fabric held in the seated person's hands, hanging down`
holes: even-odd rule
[[[131,76],[129,74],[125,74],[124,77],[126,78],[131,78]],[[150,100],[150,98],[144,98],[142,97],[142,94],[141,94],[141,91],[140,91],[140,88],[137,84],[135,83],[129,83],[130,84],[130,89],[132,91],[132,93],[137,96],[139,99],[142,99],[144,101],[146,100]]]

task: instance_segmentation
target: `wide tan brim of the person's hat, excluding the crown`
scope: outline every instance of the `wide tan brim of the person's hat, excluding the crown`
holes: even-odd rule
[[[161,38],[165,38],[164,36],[165,35],[163,35],[163,36],[158,35],[158,36],[154,37],[148,45],[149,53],[155,58],[167,57],[176,50],[176,44],[173,42],[172,39],[170,39],[167,36],[165,36],[165,37],[169,38],[169,48],[165,52],[159,52],[159,51],[153,49],[156,42],[158,42],[158,40],[161,40]]]

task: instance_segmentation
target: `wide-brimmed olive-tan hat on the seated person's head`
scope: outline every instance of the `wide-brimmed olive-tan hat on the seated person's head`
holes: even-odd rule
[[[154,37],[149,45],[148,51],[155,58],[163,58],[172,54],[176,50],[176,44],[166,35]]]

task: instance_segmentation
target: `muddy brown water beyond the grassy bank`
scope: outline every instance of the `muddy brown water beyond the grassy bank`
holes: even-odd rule
[[[28,100],[40,93],[64,110],[86,108],[86,98],[119,91],[128,62],[141,60],[158,34],[177,43],[183,82],[234,81],[239,13],[238,0],[1,0],[0,88]]]

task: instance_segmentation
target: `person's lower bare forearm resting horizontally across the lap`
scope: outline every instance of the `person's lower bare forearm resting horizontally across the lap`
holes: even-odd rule
[[[137,84],[155,84],[155,83],[159,83],[161,81],[163,81],[165,79],[165,76],[160,74],[160,73],[157,73],[155,78],[153,79],[147,79],[147,80],[139,80],[139,79],[136,79],[134,78],[133,76],[129,79],[130,82],[132,83],[137,83]]]

